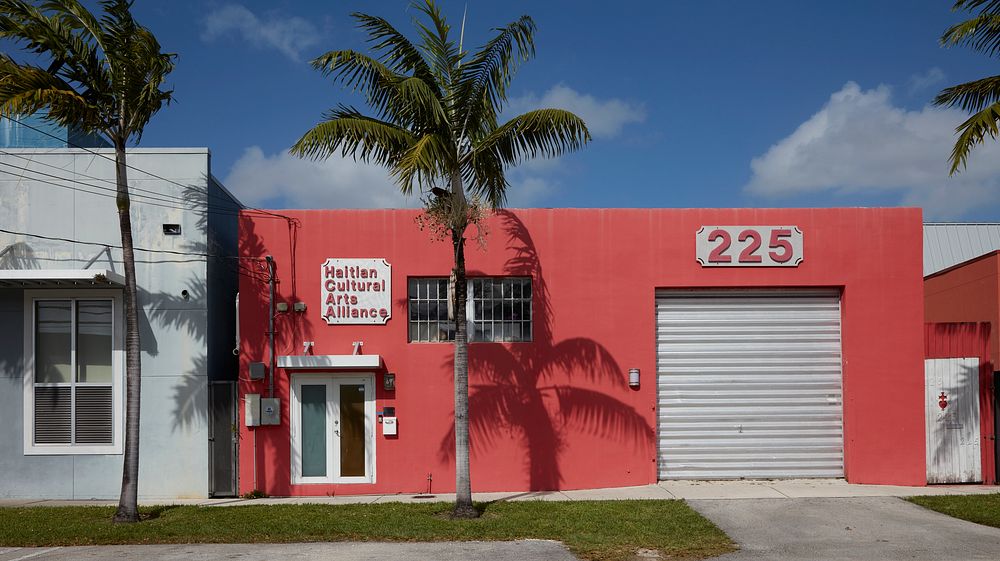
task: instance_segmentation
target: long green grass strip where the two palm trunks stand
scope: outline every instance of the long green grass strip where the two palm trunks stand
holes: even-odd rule
[[[450,503],[162,506],[139,524],[111,523],[113,507],[0,508],[0,546],[309,541],[551,539],[584,559],[624,560],[639,548],[668,558],[735,549],[682,501],[496,502],[476,520],[451,520]]]

